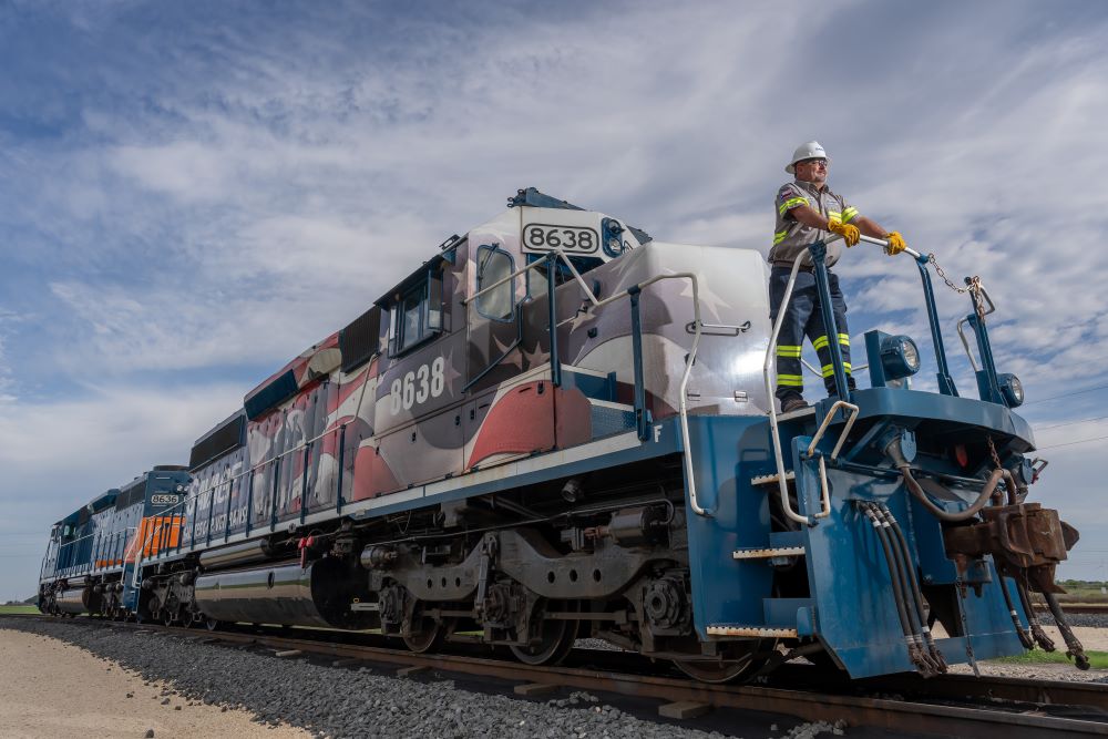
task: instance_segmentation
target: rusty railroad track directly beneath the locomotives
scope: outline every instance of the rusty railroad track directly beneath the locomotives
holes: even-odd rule
[[[31,616],[34,618],[34,616]],[[88,622],[98,623],[98,622]],[[687,718],[730,708],[792,716],[804,721],[844,721],[913,735],[994,736],[1006,739],[1108,737],[1108,685],[1019,678],[911,675],[874,681],[828,680],[819,670],[786,666],[763,685],[706,685],[657,670],[637,655],[576,649],[561,667],[532,667],[490,658],[488,647],[455,645],[458,654],[414,654],[387,646],[379,635],[307,629],[204,632],[154,624],[102,622],[105,627],[174,634],[211,644],[269,649],[291,658],[327,658],[337,665],[387,665],[402,676],[423,673],[489,678],[514,684],[522,696],[557,688],[653,698],[659,714]],[[352,638],[351,638],[352,637]],[[479,656],[484,655],[484,656]],[[895,698],[889,696],[894,695]]]

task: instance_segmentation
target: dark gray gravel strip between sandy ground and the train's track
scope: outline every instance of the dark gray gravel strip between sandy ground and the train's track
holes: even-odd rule
[[[452,680],[398,679],[394,671],[332,668],[300,659],[202,644],[194,638],[105,628],[81,620],[0,617],[0,628],[54,637],[165,680],[189,700],[242,707],[258,721],[304,727],[319,737],[627,737],[736,736],[644,720],[584,692],[544,701],[483,694]],[[198,635],[203,636],[203,635]],[[120,696],[122,697],[122,696]],[[116,696],[105,696],[114,700]],[[747,736],[842,735],[830,725],[762,723]],[[749,729],[750,722],[746,728]]]

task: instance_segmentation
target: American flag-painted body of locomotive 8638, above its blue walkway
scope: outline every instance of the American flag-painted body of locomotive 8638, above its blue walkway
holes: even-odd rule
[[[546,249],[521,239],[529,223],[599,220],[591,212],[511,208],[472,229],[386,294],[378,356],[350,372],[332,367],[338,333],[311,347],[247,396],[283,378],[295,393],[249,420],[243,443],[194,469],[186,542],[207,544],[335,506],[452,478],[478,465],[565,449],[594,439],[588,399],[575,387],[554,388],[550,371],[548,296],[537,269],[504,285],[510,299],[482,305],[482,260],[503,255],[507,273]],[[573,218],[572,218],[573,219]],[[584,228],[584,226],[578,226]],[[627,245],[630,246],[629,244]],[[705,324],[722,327],[702,339],[689,387],[689,411],[760,414],[767,400],[760,371],[768,333],[765,268],[757,255],[732,249],[648,243],[618,258],[595,258],[585,271],[596,297],[625,291],[654,275],[698,276]],[[499,274],[497,274],[499,277]],[[708,287],[710,286],[710,287]],[[410,345],[406,299],[425,290],[433,322]],[[733,296],[733,297],[728,297]],[[626,301],[584,311],[585,288],[567,279],[556,289],[561,359],[614,373],[613,401],[630,402],[630,311]],[[432,318],[431,314],[438,314]],[[676,413],[678,380],[690,340],[690,281],[655,283],[643,292],[647,407],[656,419]],[[329,373],[320,370],[330,367]],[[289,387],[293,387],[291,384]],[[738,388],[745,388],[738,391]],[[339,448],[342,448],[341,454]],[[341,470],[339,458],[341,458]],[[247,521],[249,519],[249,521]]]

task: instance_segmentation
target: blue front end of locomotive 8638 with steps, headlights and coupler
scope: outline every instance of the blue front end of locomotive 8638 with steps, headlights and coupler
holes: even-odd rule
[[[811,247],[824,335],[833,336],[824,252]],[[1010,410],[1023,401],[1018,379],[994,366],[985,325],[994,307],[979,280],[967,280],[974,311],[958,325],[977,379],[979,398],[968,399],[951,378],[929,259],[915,256],[938,392],[909,388],[921,368],[910,337],[870,331],[870,388],[848,386],[832,341],[823,373],[833,373],[838,394],[814,408],[780,418],[770,408],[766,422],[694,420],[699,501],[688,521],[702,638],[786,639],[791,654],[825,653],[855,678],[931,676],[952,660],[1036,642],[1053,648],[1028,589],[1065,624],[1054,575],[1078,534],[1056,511],[1025,502],[1034,439]],[[769,367],[767,356],[767,388]],[[720,582],[732,587],[711,585]],[[1087,668],[1073,633],[1063,635]]]

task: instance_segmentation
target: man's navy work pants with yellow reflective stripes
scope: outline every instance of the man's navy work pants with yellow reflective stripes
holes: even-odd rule
[[[769,316],[776,321],[784,297],[784,288],[789,284],[789,268],[773,267],[769,278]],[[800,355],[807,336],[820,358],[820,371],[823,374],[823,386],[828,394],[835,391],[834,368],[831,365],[829,341],[838,341],[842,351],[842,361],[847,370],[847,384],[854,389],[854,378],[850,373],[850,329],[847,328],[847,301],[839,289],[839,276],[828,273],[831,288],[831,309],[834,312],[835,335],[829,337],[823,330],[823,314],[820,312],[819,291],[815,288],[815,276],[812,273],[797,274],[797,284],[792,288],[792,298],[786,307],[784,321],[777,337],[777,398],[781,402],[790,398],[799,398],[804,392],[804,368],[800,363]]]

